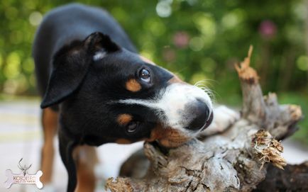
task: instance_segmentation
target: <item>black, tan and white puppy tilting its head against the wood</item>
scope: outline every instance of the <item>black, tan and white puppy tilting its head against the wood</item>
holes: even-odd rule
[[[207,93],[138,55],[104,10],[70,4],[50,11],[36,33],[33,57],[43,96],[43,181],[50,181],[59,125],[67,191],[77,183],[79,191],[93,190],[95,151],[89,146],[157,140],[177,147],[213,118]],[[79,146],[88,146],[83,162]]]

